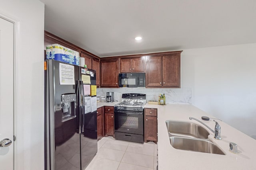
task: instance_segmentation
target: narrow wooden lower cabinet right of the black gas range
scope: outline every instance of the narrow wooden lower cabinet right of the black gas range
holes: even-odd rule
[[[157,143],[157,109],[144,109],[144,142]]]

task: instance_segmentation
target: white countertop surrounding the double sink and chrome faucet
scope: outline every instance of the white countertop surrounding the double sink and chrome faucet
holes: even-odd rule
[[[256,168],[256,140],[231,127],[224,121],[217,120],[221,127],[222,137],[222,140],[217,140],[214,139],[214,134],[204,125],[189,119],[189,117],[195,117],[203,121],[201,119],[202,116],[212,117],[212,115],[193,105],[167,104],[166,106],[160,106],[146,104],[144,108],[158,109],[158,170],[250,170]],[[166,120],[190,121],[201,125],[210,133],[210,140],[218,145],[226,155],[174,149],[170,145]],[[214,129],[215,122],[212,119],[203,122]],[[229,151],[230,142],[238,145],[238,154]]]

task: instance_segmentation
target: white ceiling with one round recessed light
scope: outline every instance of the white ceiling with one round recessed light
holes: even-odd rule
[[[256,43],[256,0],[40,1],[46,31],[99,57]]]

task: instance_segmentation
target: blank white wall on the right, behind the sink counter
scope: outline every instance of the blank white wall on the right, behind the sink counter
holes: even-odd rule
[[[256,43],[184,50],[181,69],[194,106],[256,139]]]

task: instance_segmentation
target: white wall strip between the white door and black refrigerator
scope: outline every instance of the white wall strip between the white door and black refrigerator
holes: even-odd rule
[[[44,169],[44,4],[0,0],[0,15],[16,21],[16,169]],[[1,168],[0,168],[1,169]]]

